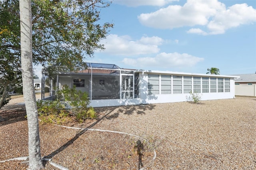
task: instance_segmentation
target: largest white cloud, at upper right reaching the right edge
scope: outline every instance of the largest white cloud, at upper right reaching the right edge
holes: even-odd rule
[[[192,28],[193,34],[223,34],[227,29],[256,22],[256,10],[247,4],[235,4],[226,9],[218,0],[188,0],[184,6],[170,5],[147,14],[140,14],[141,24],[159,29],[183,26],[207,26],[207,31]]]

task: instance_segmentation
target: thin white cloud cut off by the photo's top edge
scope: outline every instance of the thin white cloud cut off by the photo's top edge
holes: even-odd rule
[[[129,7],[137,6],[164,6],[172,1],[178,0],[113,0],[114,3]]]

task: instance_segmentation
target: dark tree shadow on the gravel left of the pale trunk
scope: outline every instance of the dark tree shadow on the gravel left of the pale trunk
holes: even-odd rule
[[[19,121],[26,121],[25,105],[5,105],[0,109],[0,126],[16,123]]]

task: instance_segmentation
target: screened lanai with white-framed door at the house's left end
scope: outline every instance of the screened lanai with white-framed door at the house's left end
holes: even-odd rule
[[[42,83],[48,85],[50,97],[64,85],[76,86],[77,90],[88,93],[90,100],[134,99],[139,97],[138,73],[132,69],[121,69],[115,64],[86,63],[86,69],[70,71],[54,66],[42,71]],[[51,73],[48,71],[51,70]],[[43,85],[44,87],[44,85]],[[134,88],[135,87],[135,88]],[[47,88],[46,88],[47,89]],[[42,99],[45,99],[45,88]]]

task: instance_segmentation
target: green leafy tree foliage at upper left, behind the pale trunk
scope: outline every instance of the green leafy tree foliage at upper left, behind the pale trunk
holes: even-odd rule
[[[86,67],[84,59],[103,50],[111,23],[100,22],[104,0],[32,0],[34,65]],[[21,84],[19,0],[0,1],[0,84]],[[0,106],[1,107],[1,106]]]

